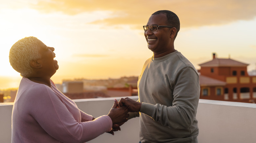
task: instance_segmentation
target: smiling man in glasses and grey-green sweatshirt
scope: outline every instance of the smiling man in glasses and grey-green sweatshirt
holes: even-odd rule
[[[139,116],[141,143],[197,143],[199,76],[174,49],[179,18],[169,10],[160,10],[143,28],[153,57],[145,62],[139,76],[139,101],[122,98],[118,106],[133,112],[129,119]]]

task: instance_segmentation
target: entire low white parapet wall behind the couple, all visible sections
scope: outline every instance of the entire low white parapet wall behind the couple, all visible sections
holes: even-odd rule
[[[138,96],[131,97],[138,100]],[[117,100],[120,99],[116,97]],[[79,109],[99,117],[108,114],[114,98],[74,100]],[[0,103],[0,143],[11,142],[12,103]],[[253,143],[256,141],[256,104],[200,99],[197,119],[199,143]],[[139,118],[130,119],[115,135],[104,133],[88,143],[138,143]]]

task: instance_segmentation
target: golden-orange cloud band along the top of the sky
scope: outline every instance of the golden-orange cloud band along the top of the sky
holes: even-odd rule
[[[81,12],[111,11],[112,18],[93,24],[128,24],[141,28],[157,10],[171,10],[181,21],[181,27],[220,25],[256,16],[255,0],[40,0],[32,5],[43,12],[60,11],[75,15]]]

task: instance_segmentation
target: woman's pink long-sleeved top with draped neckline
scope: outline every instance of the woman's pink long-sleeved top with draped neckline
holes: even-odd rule
[[[51,84],[21,79],[12,110],[12,143],[83,143],[111,130],[109,116],[92,120]]]

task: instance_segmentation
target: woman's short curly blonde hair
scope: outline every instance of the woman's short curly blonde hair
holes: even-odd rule
[[[38,41],[35,37],[25,37],[13,44],[10,49],[10,64],[23,77],[29,77],[32,74],[30,61],[41,57]]]

